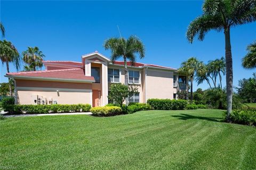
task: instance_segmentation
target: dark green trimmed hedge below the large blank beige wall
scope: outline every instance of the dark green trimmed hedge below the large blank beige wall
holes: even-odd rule
[[[188,105],[186,100],[148,99],[147,103],[154,110],[184,110]]]

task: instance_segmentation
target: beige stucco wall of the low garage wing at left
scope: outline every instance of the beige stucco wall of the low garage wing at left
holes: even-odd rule
[[[50,82],[16,79],[18,104],[35,104],[36,96],[58,104],[92,104],[91,83]],[[58,92],[57,92],[58,91]]]

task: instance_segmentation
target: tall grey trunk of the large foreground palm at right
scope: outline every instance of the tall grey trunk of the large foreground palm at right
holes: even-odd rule
[[[226,28],[225,34],[225,57],[226,57],[226,83],[227,83],[227,121],[230,121],[230,114],[232,111],[232,94],[233,94],[233,61],[231,54],[231,43],[230,43],[230,30]]]

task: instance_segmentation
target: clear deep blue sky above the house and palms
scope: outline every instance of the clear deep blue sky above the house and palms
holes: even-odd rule
[[[210,31],[203,42],[189,44],[189,23],[202,14],[202,1],[1,1],[1,22],[5,38],[18,51],[38,46],[45,60],[81,61],[81,55],[95,50],[109,56],[102,44],[110,37],[137,35],[146,46],[146,56],[138,62],[179,68],[191,56],[207,62],[225,56],[223,33]],[[231,29],[234,86],[252,76],[241,67],[246,46],[256,39],[256,23]],[[15,72],[11,65],[11,71]],[[22,69],[22,68],[21,68]],[[256,70],[254,70],[255,72]],[[6,67],[1,64],[1,82]],[[223,78],[223,84],[226,84]],[[198,87],[208,88],[202,84]],[[196,89],[196,88],[195,88]]]

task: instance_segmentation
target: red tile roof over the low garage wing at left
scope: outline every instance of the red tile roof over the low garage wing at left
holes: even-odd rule
[[[61,70],[45,70],[45,71],[22,71],[10,72],[7,76],[24,76],[24,77],[45,77],[45,78],[60,78],[74,80],[89,80],[94,81],[92,76],[85,76],[82,68],[61,69]]]

